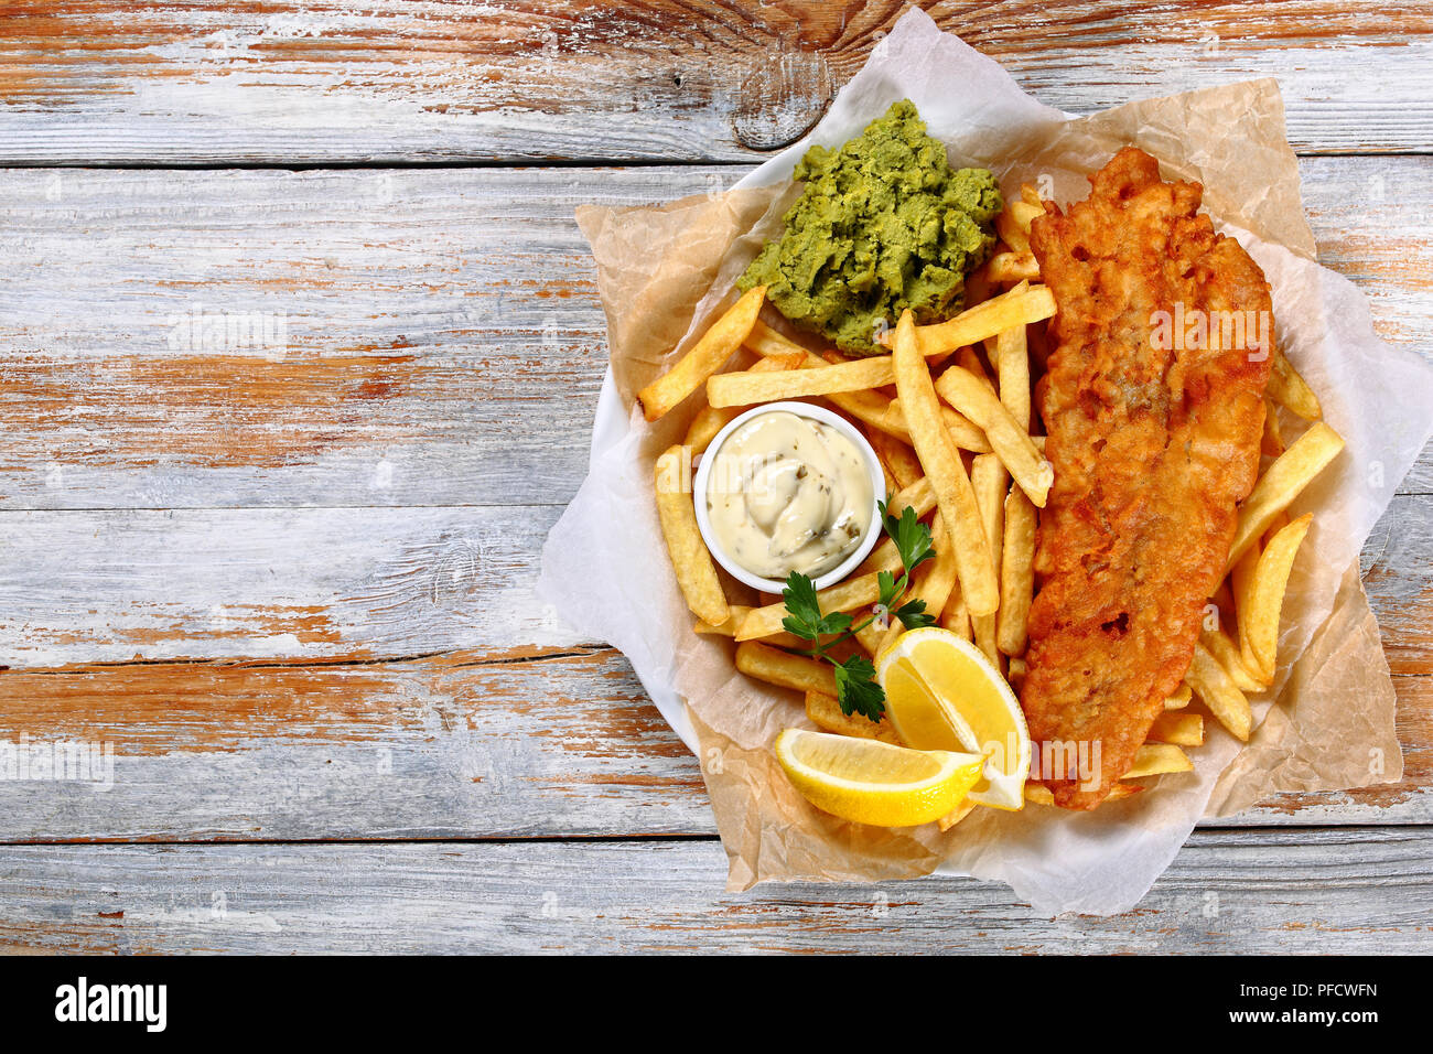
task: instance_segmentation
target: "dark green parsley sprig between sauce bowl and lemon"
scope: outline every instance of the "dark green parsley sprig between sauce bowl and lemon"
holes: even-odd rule
[[[921,523],[916,511],[909,506],[901,511],[900,516],[896,516],[886,508],[886,502],[878,505],[881,529],[896,542],[901,574],[898,578],[890,571],[877,574],[880,602],[864,621],[856,622],[844,611],[823,615],[815,587],[800,571],[791,572],[787,578],[787,588],[781,591],[788,612],[781,625],[802,641],[811,641],[814,647],[802,651],[802,655],[825,660],[835,667],[835,698],[841,704],[841,713],[861,714],[871,721],[880,721],[886,713],[886,693],[876,683],[876,667],[866,655],[837,660],[830,654],[831,650],[877,619],[884,625],[891,618],[897,618],[907,630],[931,625],[936,621],[926,614],[926,601],[904,599],[910,589],[911,574],[927,559],[936,556],[930,528]]]

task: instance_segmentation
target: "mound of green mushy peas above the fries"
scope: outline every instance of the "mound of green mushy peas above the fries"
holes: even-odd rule
[[[907,307],[917,323],[960,311],[996,241],[1000,188],[987,169],[952,169],[913,102],[835,152],[813,146],[794,176],[805,191],[738,288],[765,285],[781,314],[858,356],[883,353],[876,336]]]

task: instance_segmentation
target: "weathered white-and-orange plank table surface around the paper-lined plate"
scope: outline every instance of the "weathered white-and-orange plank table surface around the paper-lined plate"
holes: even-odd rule
[[[536,602],[606,356],[573,206],[729,185],[900,7],[0,17],[0,739],[115,754],[0,783],[0,951],[1429,949],[1429,455],[1363,558],[1406,780],[1207,825],[1119,918],[724,893],[695,760]],[[1426,6],[933,14],[1075,112],[1277,76],[1323,262],[1433,356]]]

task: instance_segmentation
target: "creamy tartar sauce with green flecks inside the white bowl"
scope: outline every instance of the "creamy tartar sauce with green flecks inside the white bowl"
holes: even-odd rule
[[[785,410],[757,414],[716,450],[706,512],[727,556],[761,578],[817,578],[871,528],[871,478],[857,446]]]

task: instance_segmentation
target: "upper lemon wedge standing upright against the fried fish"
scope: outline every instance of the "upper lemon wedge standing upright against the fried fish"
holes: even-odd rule
[[[876,660],[886,711],[916,750],[962,750],[986,759],[969,800],[1025,804],[1030,731],[1000,671],[970,641],[940,627],[901,634]]]

